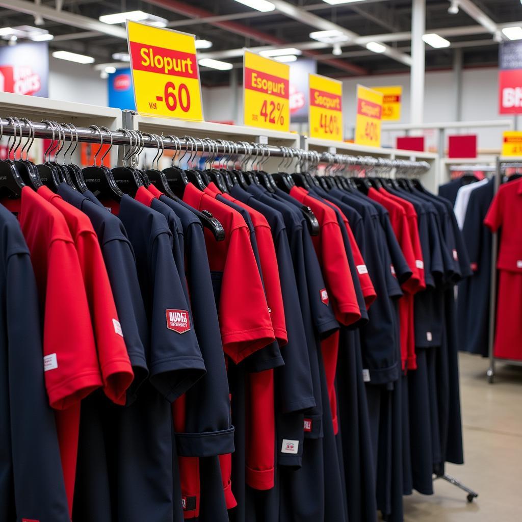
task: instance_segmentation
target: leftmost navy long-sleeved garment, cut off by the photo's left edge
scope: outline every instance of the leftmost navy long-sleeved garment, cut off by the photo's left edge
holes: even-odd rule
[[[0,240],[0,519],[68,522],[36,281],[20,225],[2,205]]]

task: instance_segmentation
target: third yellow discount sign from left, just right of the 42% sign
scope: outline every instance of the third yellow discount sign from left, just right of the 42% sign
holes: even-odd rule
[[[309,75],[310,136],[342,141],[342,82]]]

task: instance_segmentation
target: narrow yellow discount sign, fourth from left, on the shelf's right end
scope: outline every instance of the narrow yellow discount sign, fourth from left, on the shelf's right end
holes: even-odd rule
[[[383,93],[358,85],[355,143],[380,147],[382,117]]]

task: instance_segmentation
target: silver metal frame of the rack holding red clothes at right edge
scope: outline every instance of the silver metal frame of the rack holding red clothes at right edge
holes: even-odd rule
[[[496,160],[496,174],[493,180],[493,197],[499,191],[502,182],[502,173],[505,169],[522,169],[522,162],[504,162],[501,158]],[[515,366],[522,366],[522,361],[516,359],[504,359],[495,357],[493,353],[495,342],[495,323],[496,323],[496,293],[497,293],[497,274],[496,274],[496,259],[499,253],[499,233],[493,233],[491,242],[491,287],[490,287],[490,317],[489,317],[489,339],[488,351],[490,365],[486,373],[488,382],[493,384],[495,378],[495,361],[502,361],[507,364]]]

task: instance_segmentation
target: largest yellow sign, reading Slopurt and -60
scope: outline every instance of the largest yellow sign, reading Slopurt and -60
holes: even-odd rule
[[[194,36],[127,21],[139,114],[203,121]]]

